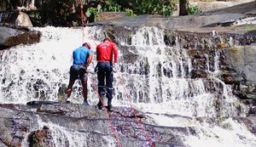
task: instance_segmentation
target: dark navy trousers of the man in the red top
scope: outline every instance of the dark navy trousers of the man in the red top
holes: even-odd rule
[[[110,62],[98,62],[97,68],[98,68],[97,78],[98,78],[99,94],[101,96],[106,94],[106,97],[108,98],[108,104],[111,104],[111,99],[113,98],[112,65]],[[106,80],[106,85],[105,85],[105,80]]]

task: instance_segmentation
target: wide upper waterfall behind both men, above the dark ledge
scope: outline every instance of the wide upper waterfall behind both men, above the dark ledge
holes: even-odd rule
[[[96,28],[85,31],[95,34],[94,29]],[[53,27],[37,30],[43,32],[41,42],[30,46],[20,45],[1,53],[1,103],[63,99],[63,93],[67,88],[69,66],[72,64],[71,54],[74,48],[82,44],[82,33],[79,29]],[[87,34],[85,40],[94,42],[90,33],[85,33]],[[96,36],[100,38],[101,32],[97,33],[99,35]],[[134,104],[143,110],[154,110],[159,113],[217,116],[214,103],[219,99],[216,98],[216,93],[207,91],[205,82],[207,79],[189,78],[193,68],[189,55],[178,46],[167,47],[163,37],[163,31],[159,29],[143,28],[132,37],[131,45],[126,45],[135,47],[132,54],[137,59],[131,63],[123,63],[122,56],[127,54],[119,52],[121,76],[125,79],[125,87],[130,90]],[[95,41],[100,42],[100,40]],[[95,47],[96,44],[93,44],[93,48]],[[218,53],[214,60],[218,63]],[[95,64],[96,62],[90,66],[90,71],[93,71]],[[213,72],[218,70],[217,67],[218,65],[214,63]],[[91,78],[96,82],[96,75],[91,75]],[[214,79],[217,78],[212,75],[214,86],[222,87],[219,89],[223,96],[222,105],[218,105],[225,108],[221,109],[222,116],[233,116],[238,113],[232,106],[237,103],[237,99],[227,92],[228,87],[224,82]],[[117,78],[114,83],[113,104],[126,105],[124,88],[119,85]],[[80,89],[79,84],[74,86],[74,103],[82,101]],[[92,87],[89,95],[90,102],[95,104],[97,98]],[[245,115],[243,112],[239,113]]]

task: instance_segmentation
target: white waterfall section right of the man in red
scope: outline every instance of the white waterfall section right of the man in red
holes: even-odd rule
[[[230,93],[230,88],[214,76],[218,74],[218,52],[214,63],[207,63],[214,66],[213,71],[210,67],[206,69],[212,76],[209,79],[191,79],[195,65],[192,65],[186,50],[179,45],[167,47],[163,38],[164,32],[156,28],[137,31],[131,39],[131,47],[136,48],[132,54],[137,55],[137,60],[125,65],[121,61],[120,64],[124,69],[125,86],[131,89],[131,97],[140,109],[183,116],[218,116],[216,107],[221,107],[222,116],[245,115],[245,111],[236,110],[233,106],[238,106],[238,100]],[[209,81],[219,93],[207,91]],[[124,91],[120,87],[117,91],[119,98]],[[222,102],[217,105],[219,100]],[[241,109],[246,110],[243,105]]]

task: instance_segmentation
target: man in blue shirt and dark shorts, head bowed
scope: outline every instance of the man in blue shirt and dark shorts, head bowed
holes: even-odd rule
[[[87,67],[90,65],[92,60],[92,51],[89,42],[84,42],[82,47],[73,50],[73,65],[70,67],[70,77],[67,86],[67,103],[70,103],[70,95],[73,91],[73,84],[77,79],[80,79],[83,87],[84,103],[83,105],[89,105],[87,101],[87,80],[88,71]]]

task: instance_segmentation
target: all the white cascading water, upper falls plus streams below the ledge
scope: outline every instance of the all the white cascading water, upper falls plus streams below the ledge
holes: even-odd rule
[[[0,103],[2,104],[26,104],[31,100],[60,101],[66,97],[72,52],[82,44],[81,29],[48,26],[33,30],[42,32],[40,42],[0,51]],[[104,33],[102,28],[86,27],[84,41],[90,42],[95,52],[96,44],[102,41]],[[132,35],[131,43],[125,42],[126,40],[122,38],[117,39],[119,39],[117,65],[119,71],[114,74],[114,106],[129,106],[125,93],[127,88],[128,93],[131,94],[132,105],[138,110],[147,112],[158,125],[198,127],[198,136],[191,135],[184,139],[188,146],[207,143],[209,136],[214,136],[214,133],[220,129],[225,130],[219,127],[207,130],[207,122],[197,122],[192,119],[193,117],[246,115],[246,106],[232,95],[229,86],[218,79],[218,51],[214,55],[214,63],[210,63],[207,54],[205,55],[206,71],[209,76],[192,79],[191,71],[195,65],[189,54],[181,48],[178,39],[176,46],[166,46],[164,31],[144,27]],[[97,83],[96,74],[92,72],[95,66],[96,55],[89,67],[92,73],[88,80],[90,105],[96,105],[98,101],[93,87]],[[119,81],[119,76],[124,84]],[[83,99],[79,81],[75,83],[73,89],[72,103],[81,104]],[[172,118],[169,117],[170,115],[173,115]],[[38,123],[39,126],[44,126],[44,122]],[[228,133],[236,134],[239,132],[237,130],[241,129],[243,130],[241,136],[249,136],[246,139],[239,139],[236,136],[232,141],[244,144],[248,139],[255,140],[255,136],[245,131],[245,127],[238,122],[227,120],[223,124],[236,127],[235,133],[229,130],[226,131]],[[71,130],[65,130],[55,124],[49,126],[54,129],[55,144],[66,144],[58,140],[67,139],[70,146],[77,146],[80,142],[79,138],[84,134],[86,136],[86,133],[70,133]],[[212,140],[218,142],[214,145],[222,144],[218,139]],[[212,140],[210,141],[214,142]],[[109,142],[113,142],[113,139]],[[252,141],[251,144],[256,143]]]

